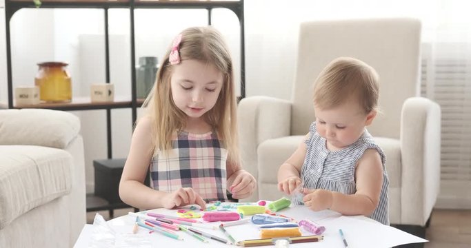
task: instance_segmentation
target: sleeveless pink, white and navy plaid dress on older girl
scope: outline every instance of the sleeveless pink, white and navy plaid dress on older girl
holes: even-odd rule
[[[182,131],[176,138],[172,149],[159,151],[150,161],[150,186],[164,192],[191,187],[206,202],[227,200],[228,152],[217,134]]]

